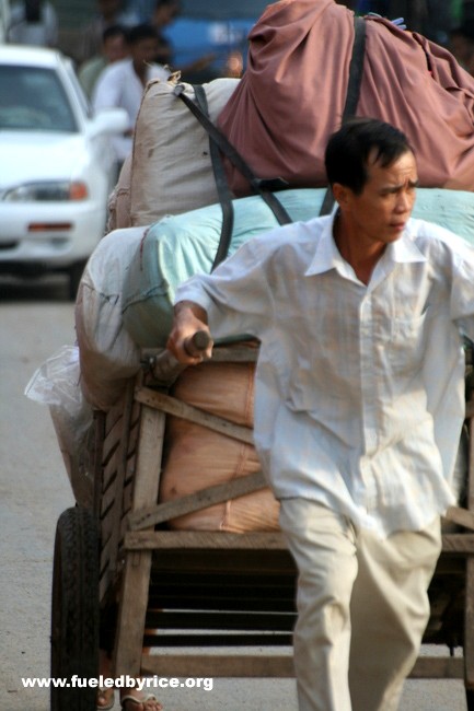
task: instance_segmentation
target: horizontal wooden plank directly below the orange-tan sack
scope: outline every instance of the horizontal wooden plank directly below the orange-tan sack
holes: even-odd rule
[[[231,534],[208,531],[128,532],[126,550],[153,549],[220,549],[220,550],[287,550],[280,533]]]

